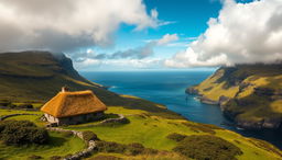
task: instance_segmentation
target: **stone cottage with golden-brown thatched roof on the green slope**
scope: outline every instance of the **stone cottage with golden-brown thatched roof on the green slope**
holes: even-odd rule
[[[69,92],[62,89],[41,111],[52,124],[75,125],[99,119],[106,105],[89,90]]]

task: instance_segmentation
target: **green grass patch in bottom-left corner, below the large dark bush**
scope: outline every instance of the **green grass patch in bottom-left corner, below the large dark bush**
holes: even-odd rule
[[[0,159],[28,159],[32,155],[50,159],[52,156],[66,156],[85,148],[85,144],[77,137],[64,137],[59,133],[50,133],[51,140],[48,145],[29,145],[29,146],[6,146],[0,144]]]

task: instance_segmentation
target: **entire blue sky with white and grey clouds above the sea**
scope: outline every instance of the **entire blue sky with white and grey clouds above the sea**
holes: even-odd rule
[[[64,53],[78,70],[282,59],[282,0],[0,0],[0,53]]]

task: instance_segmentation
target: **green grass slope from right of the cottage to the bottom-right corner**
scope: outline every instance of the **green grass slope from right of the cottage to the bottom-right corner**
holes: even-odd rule
[[[172,133],[184,135],[210,134],[205,130],[195,129],[195,127],[187,127],[187,125],[184,125],[183,123],[188,123],[195,126],[202,126],[202,124],[187,122],[185,119],[167,119],[160,116],[148,116],[145,111],[109,107],[107,113],[124,114],[130,119],[130,124],[113,126],[91,126],[91,124],[83,124],[68,126],[67,128],[76,130],[91,130],[96,133],[99,138],[108,141],[117,141],[121,144],[140,142],[148,148],[169,151],[176,146],[175,141],[166,138],[166,136]],[[212,130],[215,132],[216,136],[232,142],[243,151],[243,155],[238,157],[238,159],[265,160],[281,158],[275,152],[254,146],[253,142],[251,142],[256,141],[253,139],[251,140],[226,129]],[[271,145],[268,147],[274,148]]]

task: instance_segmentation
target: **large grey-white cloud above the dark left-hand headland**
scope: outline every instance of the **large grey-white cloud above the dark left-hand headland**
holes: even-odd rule
[[[112,44],[120,23],[143,30],[160,21],[142,0],[0,0],[0,52],[68,52]]]

